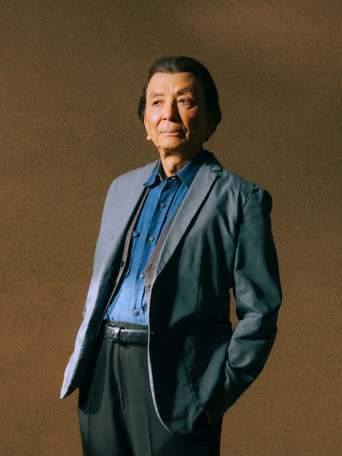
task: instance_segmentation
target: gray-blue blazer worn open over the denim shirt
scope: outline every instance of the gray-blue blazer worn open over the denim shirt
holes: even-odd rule
[[[109,187],[83,322],[61,399],[83,382],[126,231],[158,160]],[[148,368],[156,413],[186,433],[206,409],[217,421],[259,375],[275,341],[282,300],[263,188],[210,153],[167,234],[150,289]],[[229,321],[229,289],[238,323]]]

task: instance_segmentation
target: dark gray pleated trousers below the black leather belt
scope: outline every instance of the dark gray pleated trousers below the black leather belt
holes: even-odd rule
[[[128,329],[148,328],[114,323]],[[223,417],[209,425],[203,413],[187,434],[172,433],[162,425],[150,389],[147,345],[101,337],[79,388],[78,418],[86,456],[220,454]]]

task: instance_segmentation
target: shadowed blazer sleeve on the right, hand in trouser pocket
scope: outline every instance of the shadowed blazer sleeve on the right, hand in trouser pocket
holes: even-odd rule
[[[224,388],[206,405],[215,422],[257,378],[275,341],[282,291],[271,208],[271,195],[258,188],[242,212],[233,287],[238,323],[228,347]]]

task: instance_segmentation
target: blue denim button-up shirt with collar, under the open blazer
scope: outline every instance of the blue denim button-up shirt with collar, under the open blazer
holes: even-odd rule
[[[148,325],[145,295],[145,267],[163,229],[181,205],[197,171],[207,159],[208,151],[203,147],[175,175],[161,175],[161,160],[144,183],[150,186],[141,209],[132,245],[127,256],[128,266],[119,290],[104,315],[104,320],[127,321]]]

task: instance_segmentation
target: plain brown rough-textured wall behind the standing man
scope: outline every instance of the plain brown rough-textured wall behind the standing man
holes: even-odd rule
[[[109,184],[159,156],[136,109],[165,55],[208,67],[205,146],[273,197],[279,332],[221,454],[340,454],[339,3],[0,1],[1,455],[82,454],[63,373]]]

